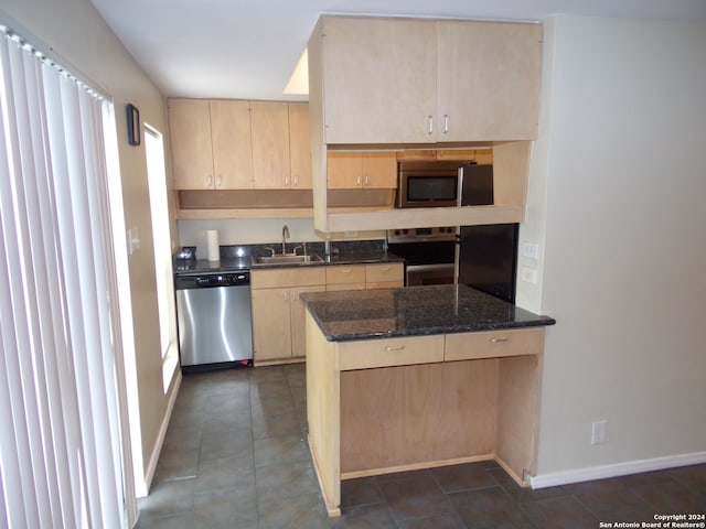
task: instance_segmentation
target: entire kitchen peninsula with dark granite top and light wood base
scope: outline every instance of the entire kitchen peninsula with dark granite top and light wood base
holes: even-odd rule
[[[452,284],[301,299],[309,445],[330,516],[346,478],[495,460],[526,485],[555,320]]]

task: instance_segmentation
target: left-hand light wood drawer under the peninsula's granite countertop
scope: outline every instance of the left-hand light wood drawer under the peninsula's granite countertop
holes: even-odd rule
[[[443,361],[443,335],[361,339],[339,344],[339,369]]]

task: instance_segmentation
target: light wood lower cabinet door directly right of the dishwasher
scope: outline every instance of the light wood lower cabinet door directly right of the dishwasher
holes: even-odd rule
[[[255,363],[291,357],[290,289],[253,290]]]

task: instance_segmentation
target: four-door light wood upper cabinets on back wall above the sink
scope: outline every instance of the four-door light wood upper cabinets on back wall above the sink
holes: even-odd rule
[[[169,99],[178,190],[310,190],[306,102]]]

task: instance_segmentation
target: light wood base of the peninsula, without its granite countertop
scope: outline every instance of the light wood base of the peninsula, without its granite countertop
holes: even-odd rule
[[[544,327],[329,342],[307,313],[309,446],[325,507],[341,481],[494,460],[536,471]]]

